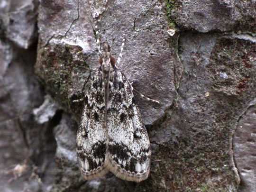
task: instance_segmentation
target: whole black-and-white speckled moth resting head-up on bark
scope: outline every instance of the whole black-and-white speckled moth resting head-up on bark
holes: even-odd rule
[[[86,180],[108,171],[127,181],[148,177],[150,143],[132,90],[105,43],[100,67],[85,96],[76,139],[80,171]]]

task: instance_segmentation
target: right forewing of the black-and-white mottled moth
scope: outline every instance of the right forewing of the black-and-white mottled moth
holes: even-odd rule
[[[117,177],[140,182],[148,177],[151,149],[145,125],[126,77],[110,79],[105,165]]]

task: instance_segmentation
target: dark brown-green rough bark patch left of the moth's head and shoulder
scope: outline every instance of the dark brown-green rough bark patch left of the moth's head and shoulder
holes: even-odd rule
[[[80,119],[77,114],[81,114],[82,102],[73,103],[73,100],[83,97],[82,88],[90,77],[90,69],[84,62],[82,48],[68,45],[39,48],[36,73],[46,87],[46,91],[62,105],[64,110],[71,111],[77,119]],[[77,76],[80,78],[75,79]],[[78,84],[80,90],[75,92]]]

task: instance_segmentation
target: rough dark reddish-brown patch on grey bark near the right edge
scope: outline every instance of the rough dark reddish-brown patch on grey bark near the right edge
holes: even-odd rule
[[[227,95],[246,91],[255,68],[255,43],[241,39],[221,38],[210,56],[213,88]]]

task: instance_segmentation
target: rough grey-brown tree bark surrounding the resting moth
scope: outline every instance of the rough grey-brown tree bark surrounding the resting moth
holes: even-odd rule
[[[125,33],[134,88],[161,102],[136,98],[141,183],[79,173],[73,100],[99,66],[96,14],[115,57]],[[0,191],[256,191],[255,15],[256,0],[1,0]]]

